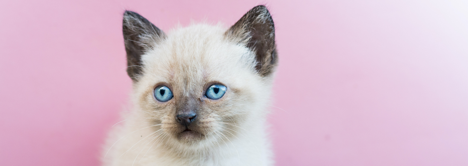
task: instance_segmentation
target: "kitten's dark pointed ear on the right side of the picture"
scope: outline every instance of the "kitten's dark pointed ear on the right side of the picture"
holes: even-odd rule
[[[225,36],[247,45],[256,53],[256,70],[264,77],[270,75],[277,64],[275,25],[268,9],[259,5],[237,21]]]

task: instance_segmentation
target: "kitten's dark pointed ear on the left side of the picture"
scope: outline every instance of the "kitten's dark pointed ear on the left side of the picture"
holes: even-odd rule
[[[127,74],[136,82],[143,71],[141,55],[152,49],[166,35],[146,18],[132,11],[125,11],[122,30],[127,52]]]

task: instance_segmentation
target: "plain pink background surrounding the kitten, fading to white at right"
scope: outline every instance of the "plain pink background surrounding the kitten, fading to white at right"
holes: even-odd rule
[[[468,4],[441,1],[1,0],[0,165],[99,165],[131,89],[124,9],[168,31],[266,3],[278,166],[467,166]]]

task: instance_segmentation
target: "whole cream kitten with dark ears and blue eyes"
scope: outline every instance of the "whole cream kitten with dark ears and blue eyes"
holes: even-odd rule
[[[267,8],[229,29],[165,34],[125,11],[132,113],[114,129],[105,166],[271,166],[266,109],[277,53]]]

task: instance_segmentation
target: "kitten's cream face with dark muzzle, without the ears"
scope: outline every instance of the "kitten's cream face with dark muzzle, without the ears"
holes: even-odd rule
[[[234,124],[251,116],[256,98],[261,98],[258,95],[267,93],[262,92],[266,87],[258,87],[262,79],[253,63],[246,63],[253,62],[254,56],[227,41],[224,31],[206,25],[177,30],[142,57],[143,76],[136,83],[137,91],[142,92],[138,93],[139,106],[150,122],[162,124],[164,132],[181,143],[231,136],[225,130],[234,132]],[[168,89],[161,92],[161,85]],[[207,91],[216,95],[215,91],[221,94],[224,89],[210,90],[212,85],[226,87],[225,93],[213,98]],[[167,97],[169,91],[173,98]],[[164,101],[166,98],[170,99]],[[177,117],[190,113],[195,115],[189,115],[190,122]]]

